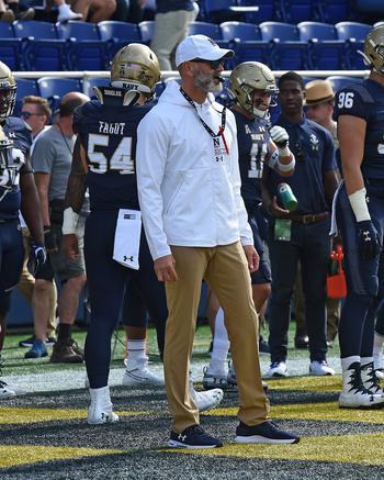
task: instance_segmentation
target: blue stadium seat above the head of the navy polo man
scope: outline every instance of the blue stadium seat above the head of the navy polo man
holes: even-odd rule
[[[296,25],[282,22],[260,23],[261,37],[271,42],[271,62],[274,70],[306,70],[308,68],[307,43],[300,40]]]

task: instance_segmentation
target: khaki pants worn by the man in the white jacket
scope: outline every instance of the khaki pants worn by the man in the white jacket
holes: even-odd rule
[[[166,282],[169,316],[163,366],[173,431],[199,424],[199,410],[189,393],[189,370],[203,279],[225,312],[239,389],[238,417],[247,425],[266,422],[269,401],[261,383],[258,317],[241,244],[171,249],[179,280]]]

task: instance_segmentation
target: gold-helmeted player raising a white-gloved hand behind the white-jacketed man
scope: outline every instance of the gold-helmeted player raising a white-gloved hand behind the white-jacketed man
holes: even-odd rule
[[[269,121],[269,109],[276,104],[279,89],[267,65],[259,62],[238,65],[230,74],[229,89],[235,100],[233,112],[237,124],[241,197],[252,228],[255,248],[260,257],[259,269],[251,274],[255,308],[260,313],[271,290],[271,271],[263,247],[268,230],[267,215],[261,205],[263,166],[267,163],[281,176],[290,176],[294,171],[295,159],[289,148],[285,129],[278,125],[271,127]],[[211,365],[203,379],[205,388],[225,387],[228,380],[229,383],[236,381],[233,373],[227,379],[227,353],[228,337],[223,315],[217,315]]]

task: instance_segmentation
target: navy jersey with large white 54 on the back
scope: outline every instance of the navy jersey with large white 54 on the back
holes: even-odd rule
[[[76,109],[74,130],[87,154],[91,210],[139,210],[136,130],[151,107],[109,105],[93,100]]]

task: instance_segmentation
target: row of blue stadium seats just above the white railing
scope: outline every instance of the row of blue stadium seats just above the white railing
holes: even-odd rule
[[[190,34],[203,33],[235,49],[236,63],[258,59],[274,70],[354,70],[364,69],[358,49],[371,27],[359,22],[192,22]],[[0,23],[0,58],[15,71],[106,70],[118,48],[149,44],[153,31],[154,21]]]

